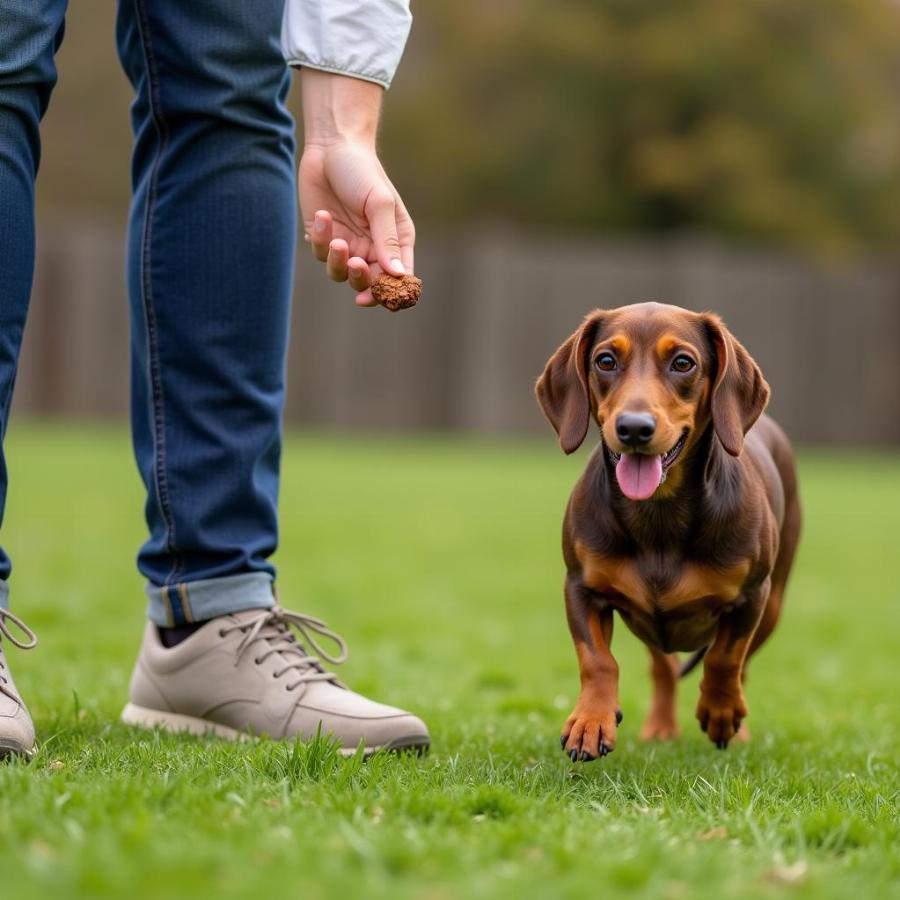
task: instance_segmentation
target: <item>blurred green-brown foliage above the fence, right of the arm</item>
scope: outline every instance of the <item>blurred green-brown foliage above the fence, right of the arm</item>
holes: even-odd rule
[[[900,238],[889,0],[428,0],[383,144],[420,216],[825,253]]]

